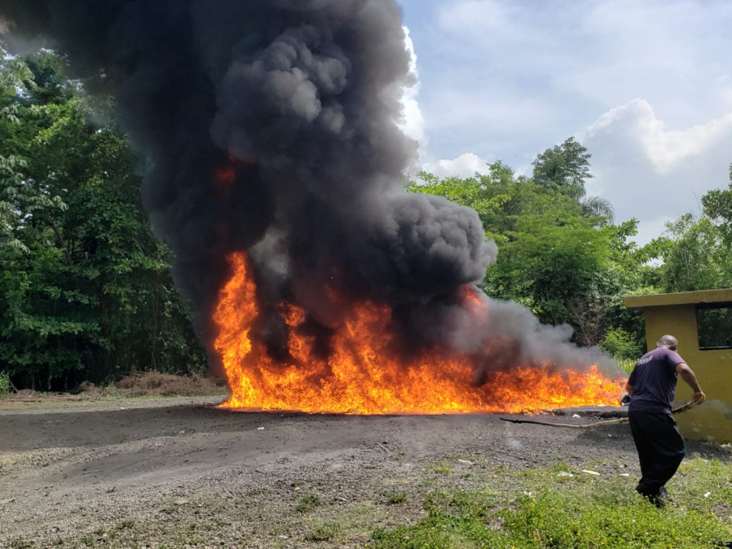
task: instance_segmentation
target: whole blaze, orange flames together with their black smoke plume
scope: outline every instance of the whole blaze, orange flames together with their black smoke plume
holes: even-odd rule
[[[417,145],[394,0],[0,0],[118,97],[144,198],[228,406],[346,413],[615,403],[599,356],[492,302],[477,214],[403,193]]]

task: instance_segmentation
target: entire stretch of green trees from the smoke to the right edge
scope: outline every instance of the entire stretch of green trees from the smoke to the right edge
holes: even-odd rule
[[[646,347],[645,329],[624,296],[732,287],[732,183],[703,196],[701,217],[684,215],[639,247],[637,220],[612,225],[612,205],[586,196],[590,158],[569,138],[537,156],[530,179],[496,162],[468,179],[422,173],[407,188],[476,209],[499,250],[488,295],[569,324],[581,346],[630,359]]]

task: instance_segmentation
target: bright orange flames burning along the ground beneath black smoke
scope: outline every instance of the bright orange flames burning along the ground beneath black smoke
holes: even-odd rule
[[[474,384],[468,359],[425,353],[409,364],[391,356],[389,307],[362,303],[332,337],[332,351],[315,352],[315,338],[300,326],[306,315],[288,303],[278,307],[288,326],[291,359],[279,362],[252,337],[260,314],[256,285],[244,253],[230,256],[234,275],[220,292],[214,313],[215,349],[223,362],[231,397],[225,408],[332,414],[471,414],[532,412],[548,408],[615,404],[624,380],[597,370],[551,371],[523,367],[491,373]],[[465,306],[488,314],[473,290]]]

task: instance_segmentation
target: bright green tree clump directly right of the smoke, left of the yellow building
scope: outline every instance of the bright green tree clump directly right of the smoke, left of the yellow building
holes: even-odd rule
[[[636,246],[635,220],[608,224],[610,204],[586,197],[589,158],[569,139],[537,157],[532,179],[496,162],[488,174],[468,179],[422,173],[408,190],[478,204],[499,248],[484,281],[488,295],[526,305],[545,324],[570,324],[580,345],[599,344],[614,327],[642,345],[641,316],[627,311],[622,298],[657,284],[658,268],[648,262],[660,255],[660,244]]]

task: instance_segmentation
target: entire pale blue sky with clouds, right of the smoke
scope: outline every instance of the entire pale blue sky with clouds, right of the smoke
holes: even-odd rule
[[[639,242],[698,213],[732,163],[732,1],[400,0],[419,87],[407,113],[423,168],[529,171],[575,135],[592,194]]]

